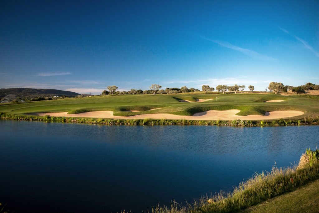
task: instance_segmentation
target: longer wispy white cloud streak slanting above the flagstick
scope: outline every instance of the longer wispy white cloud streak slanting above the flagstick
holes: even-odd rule
[[[233,44],[231,44],[229,42],[222,42],[222,41],[218,41],[218,40],[212,40],[212,39],[206,38],[204,36],[201,36],[201,38],[205,39],[207,41],[211,41],[211,42],[217,43],[220,46],[240,51],[241,53],[243,53],[245,55],[248,55],[248,56],[250,56],[250,57],[252,57],[254,59],[260,59],[260,60],[265,60],[265,61],[276,61],[277,60],[275,58],[272,58],[272,57],[269,57],[269,56],[265,56],[263,54],[257,53],[257,52],[255,52],[253,50],[250,50],[250,49],[244,49],[244,48],[241,48],[241,47],[237,47],[237,46],[235,46],[235,45],[233,45]]]

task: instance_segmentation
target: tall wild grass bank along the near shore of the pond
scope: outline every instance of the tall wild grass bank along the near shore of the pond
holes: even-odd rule
[[[304,154],[297,167],[277,168],[270,172],[255,174],[252,178],[239,184],[232,193],[219,193],[205,196],[199,203],[181,206],[172,203],[170,207],[155,207],[154,213],[164,212],[238,212],[263,201],[292,192],[319,179],[319,161],[315,159],[310,166]],[[278,211],[277,211],[278,212]]]

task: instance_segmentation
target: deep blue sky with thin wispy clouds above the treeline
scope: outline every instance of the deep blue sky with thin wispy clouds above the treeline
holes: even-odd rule
[[[0,87],[319,84],[319,1],[0,1]]]

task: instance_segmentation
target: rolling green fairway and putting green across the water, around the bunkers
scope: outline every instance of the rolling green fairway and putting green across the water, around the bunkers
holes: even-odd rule
[[[217,101],[216,101],[217,97]],[[179,100],[213,99],[200,103],[182,103]],[[276,103],[264,103],[268,100],[284,100]],[[161,108],[147,111],[150,109]],[[170,113],[175,115],[193,115],[206,110],[241,110],[237,115],[264,115],[267,111],[299,110],[305,114],[296,118],[316,118],[319,116],[319,100],[284,95],[117,95],[93,96],[50,101],[0,105],[0,112],[12,115],[37,112],[65,112],[72,110],[97,111],[112,110],[116,116],[137,114]],[[125,110],[139,110],[129,112]]]

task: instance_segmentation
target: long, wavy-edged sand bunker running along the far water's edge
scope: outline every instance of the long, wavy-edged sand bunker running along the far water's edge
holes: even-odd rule
[[[208,110],[204,112],[198,112],[191,116],[173,115],[168,113],[155,113],[155,114],[144,114],[144,115],[133,115],[133,116],[114,116],[113,111],[93,111],[83,112],[78,114],[67,114],[68,112],[45,112],[45,113],[29,113],[26,115],[39,115],[39,116],[56,116],[56,117],[84,117],[84,118],[120,118],[120,119],[186,119],[186,120],[266,120],[266,119],[278,119],[278,118],[289,118],[304,114],[301,111],[286,110],[286,111],[272,111],[266,112],[265,115],[247,115],[240,116],[235,115],[240,110]]]

